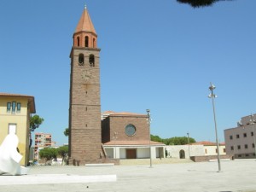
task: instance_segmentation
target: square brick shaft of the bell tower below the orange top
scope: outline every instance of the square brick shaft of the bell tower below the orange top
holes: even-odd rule
[[[105,161],[102,150],[100,49],[73,48],[71,52],[69,165]],[[79,55],[84,64],[79,65]],[[95,56],[94,67],[89,57]]]

